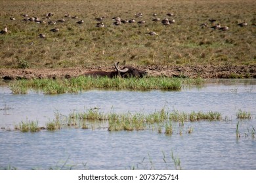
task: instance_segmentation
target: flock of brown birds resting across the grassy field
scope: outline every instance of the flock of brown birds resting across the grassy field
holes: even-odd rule
[[[167,13],[166,14],[168,16],[168,18],[164,18],[163,20],[161,20],[160,18],[157,17],[157,14],[154,13],[152,14],[152,21],[153,22],[161,22],[161,24],[163,25],[170,25],[170,24],[174,24],[175,23],[175,20],[174,19],[170,19],[169,18],[172,18],[173,16],[175,16],[175,14],[173,13]],[[60,20],[56,20],[56,21],[53,21],[51,20],[51,18],[54,16],[54,14],[52,12],[49,12],[48,14],[45,15],[45,18],[42,18],[42,20],[40,18],[37,18],[35,16],[32,16],[30,17],[28,14],[22,14],[22,16],[24,17],[24,19],[22,19],[22,21],[25,21],[25,22],[35,22],[37,24],[49,24],[49,25],[55,25],[55,24],[59,24],[59,23],[64,23],[66,22],[65,19],[60,19]],[[141,12],[135,14],[135,18],[142,18],[143,14]],[[64,14],[64,18],[71,18],[71,19],[77,19],[78,17],[75,15],[75,16],[71,16],[70,14]],[[105,27],[104,25],[104,19],[106,17],[102,16],[102,17],[98,17],[98,18],[95,18],[95,20],[97,21],[96,22],[96,25],[95,27]],[[14,17],[10,17],[10,20],[16,20]],[[48,20],[48,22],[46,22]],[[112,20],[114,21],[113,22],[113,25],[121,25],[121,24],[133,24],[135,22],[137,22],[137,20],[135,19],[130,19],[130,20],[127,20],[127,19],[121,19],[119,16],[116,16],[114,18],[112,18]],[[79,20],[76,22],[76,24],[83,24],[83,20]],[[210,28],[211,29],[219,29],[221,31],[227,31],[229,29],[228,26],[221,26],[221,24],[217,23],[217,20],[215,19],[209,19],[209,22],[211,23],[211,26]],[[146,21],[144,20],[139,20],[137,22],[137,24],[146,24]],[[240,27],[244,27],[247,25],[246,22],[241,22],[239,24]],[[204,28],[204,27],[208,27],[207,23],[203,23],[200,25],[200,27]],[[53,33],[56,33],[58,31],[60,31],[60,29],[58,27],[54,27],[53,29],[50,29],[49,31],[52,31]],[[0,31],[0,34],[6,34],[8,32],[7,30],[7,27],[5,27],[3,30]],[[158,35],[158,33],[154,32],[154,31],[150,31],[148,33],[146,33],[148,35]],[[40,38],[46,38],[46,35],[43,34],[43,33],[40,33],[38,35]]]

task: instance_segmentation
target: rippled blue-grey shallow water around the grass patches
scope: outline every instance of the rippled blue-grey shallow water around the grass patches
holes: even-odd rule
[[[203,86],[180,92],[89,90],[78,94],[43,95],[30,92],[13,95],[0,88],[0,167],[18,169],[175,169],[171,152],[182,169],[256,169],[256,80],[209,80]],[[100,108],[100,112],[217,111],[226,121],[174,124],[173,135],[157,131],[107,129],[61,129],[21,133],[12,130],[21,121],[45,125],[54,112]],[[6,109],[7,108],[7,109]],[[236,112],[251,112],[251,120],[236,119]],[[236,124],[240,135],[236,139]],[[192,133],[187,129],[193,127]],[[10,130],[9,130],[10,129]],[[249,131],[248,131],[249,130]],[[163,162],[163,154],[165,160]],[[65,163],[67,161],[67,163]],[[83,163],[86,163],[86,165]]]

